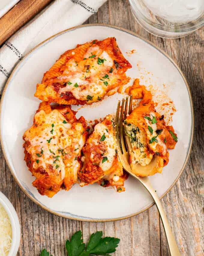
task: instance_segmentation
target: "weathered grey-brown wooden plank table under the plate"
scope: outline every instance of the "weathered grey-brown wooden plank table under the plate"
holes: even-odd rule
[[[182,255],[204,255],[204,30],[180,39],[162,39],[146,32],[135,21],[127,0],[109,0],[86,23],[107,23],[138,33],[167,52],[179,65],[190,85],[195,112],[195,134],[190,158],[176,185],[162,199]],[[2,191],[12,202],[22,228],[18,255],[38,256],[47,248],[65,256],[65,241],[81,229],[84,240],[103,230],[121,239],[115,256],[168,256],[167,241],[155,206],[126,220],[88,223],[55,216],[33,203],[14,182],[2,151]]]

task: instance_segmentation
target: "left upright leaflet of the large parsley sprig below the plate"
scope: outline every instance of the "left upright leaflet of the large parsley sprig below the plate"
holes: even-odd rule
[[[79,256],[85,250],[82,239],[82,232],[78,231],[66,242],[66,249],[69,256]]]

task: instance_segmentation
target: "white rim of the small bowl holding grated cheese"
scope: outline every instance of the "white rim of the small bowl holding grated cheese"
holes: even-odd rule
[[[12,227],[12,242],[8,256],[16,256],[20,245],[20,223],[16,210],[8,198],[0,192],[0,204],[6,210]]]

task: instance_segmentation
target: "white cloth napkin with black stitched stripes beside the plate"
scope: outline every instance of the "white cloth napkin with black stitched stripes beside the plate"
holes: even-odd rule
[[[106,0],[55,0],[0,48],[0,91],[15,65],[48,37],[82,24]],[[68,49],[67,49],[68,50]]]

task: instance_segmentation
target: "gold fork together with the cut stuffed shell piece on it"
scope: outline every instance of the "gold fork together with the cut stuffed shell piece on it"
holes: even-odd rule
[[[163,166],[169,161],[167,148],[173,149],[178,138],[173,127],[166,126],[164,117],[156,112],[151,92],[147,91],[145,86],[140,86],[139,81],[137,88],[136,91],[140,95],[136,97],[143,98],[137,108],[132,110],[132,95],[123,98],[122,105],[118,102],[115,121],[118,156],[123,168],[139,180],[154,199],[164,226],[170,254],[179,256],[181,254],[164,208],[147,177],[162,172]]]

